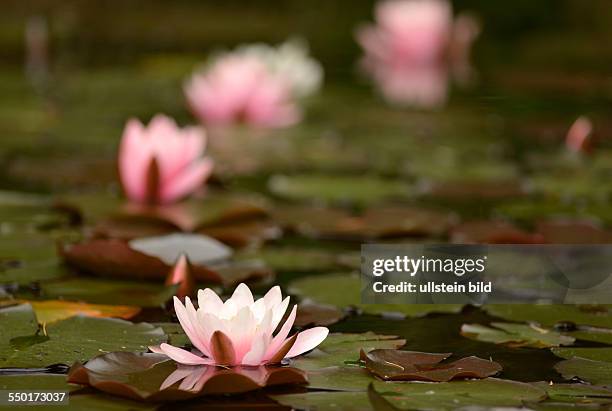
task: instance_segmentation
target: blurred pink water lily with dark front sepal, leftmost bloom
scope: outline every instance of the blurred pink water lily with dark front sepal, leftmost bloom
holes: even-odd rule
[[[158,114],[148,126],[129,120],[119,148],[121,184],[130,201],[172,203],[200,188],[213,162],[203,157],[204,130],[180,128]]]

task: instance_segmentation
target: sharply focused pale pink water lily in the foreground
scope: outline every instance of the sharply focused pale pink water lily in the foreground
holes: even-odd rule
[[[197,309],[189,297],[185,298],[184,305],[175,297],[176,315],[194,350],[186,351],[165,343],[149,348],[185,365],[279,363],[312,350],[329,333],[325,327],[315,327],[289,337],[297,313],[297,305],[294,305],[287,320],[274,334],[288,307],[289,297],[283,299],[278,286],[257,301],[245,284],[236,287],[225,302],[209,288],[199,290]]]

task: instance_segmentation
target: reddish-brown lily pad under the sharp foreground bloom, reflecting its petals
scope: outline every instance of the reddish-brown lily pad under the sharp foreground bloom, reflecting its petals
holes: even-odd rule
[[[202,395],[235,394],[277,385],[307,384],[292,367],[177,365],[160,354],[113,352],[85,365],[76,362],[68,382],[140,401],[176,401]]]

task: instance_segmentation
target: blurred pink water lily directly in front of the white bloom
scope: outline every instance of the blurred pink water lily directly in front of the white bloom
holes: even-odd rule
[[[185,95],[205,124],[243,121],[260,127],[286,127],[301,118],[290,82],[247,53],[224,55],[210,68],[193,74],[185,84]]]

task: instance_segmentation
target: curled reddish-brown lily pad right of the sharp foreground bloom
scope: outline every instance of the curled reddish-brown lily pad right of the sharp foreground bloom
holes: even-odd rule
[[[450,353],[432,354],[414,351],[378,349],[361,351],[366,368],[386,381],[446,382],[457,378],[486,378],[502,370],[501,365],[478,357],[444,362]]]

